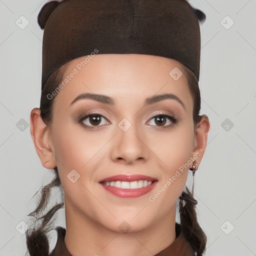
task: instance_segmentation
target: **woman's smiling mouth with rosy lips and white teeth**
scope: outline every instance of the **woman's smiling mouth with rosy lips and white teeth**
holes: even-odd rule
[[[105,190],[118,197],[138,197],[148,193],[157,179],[145,175],[115,175],[98,181]]]

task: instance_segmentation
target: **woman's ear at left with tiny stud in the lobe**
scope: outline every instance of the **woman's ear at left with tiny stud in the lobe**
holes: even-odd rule
[[[56,162],[51,131],[42,121],[40,109],[37,107],[33,108],[30,113],[30,133],[41,164],[46,169],[53,169],[56,166]]]

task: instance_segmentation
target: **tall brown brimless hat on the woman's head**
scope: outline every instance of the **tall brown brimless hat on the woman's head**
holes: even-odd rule
[[[92,52],[172,58],[199,80],[200,28],[205,14],[186,0],[49,1],[38,14],[43,88],[66,62]]]

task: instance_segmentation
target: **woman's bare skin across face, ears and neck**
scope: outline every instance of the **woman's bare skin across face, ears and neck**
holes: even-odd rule
[[[64,76],[83,59],[70,61]],[[97,54],[55,96],[50,127],[42,122],[40,110],[32,109],[30,131],[36,152],[45,168],[58,168],[65,202],[64,241],[73,256],[149,256],[174,241],[176,201],[188,168],[154,202],[148,198],[198,151],[196,160],[201,161],[209,130],[205,115],[194,130],[186,77],[174,80],[169,75],[174,67],[181,69],[181,64],[164,57]],[[86,92],[111,96],[115,103],[82,99],[70,106]],[[143,106],[145,98],[162,93],[176,95],[184,107],[175,99]],[[93,127],[89,118],[78,122],[90,111],[106,117],[95,129],[82,125]],[[162,128],[151,118],[162,113],[173,115],[177,123],[166,118]],[[118,126],[123,118],[131,123],[127,131]],[[80,175],[74,183],[67,178],[72,169]],[[120,198],[98,183],[116,174],[144,174],[158,181],[145,195]],[[118,227],[123,221],[130,227],[125,233]]]

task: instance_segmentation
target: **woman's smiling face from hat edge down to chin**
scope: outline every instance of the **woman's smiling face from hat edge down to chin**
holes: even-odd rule
[[[54,98],[50,129],[66,217],[114,231],[173,219],[187,164],[198,155],[193,100],[180,63],[140,54],[98,54],[84,66],[83,60],[70,61],[65,70],[68,82]],[[162,94],[169,97],[159,98]],[[89,113],[94,115],[83,118]],[[99,182],[119,174],[156,181],[151,190],[140,189],[144,194],[112,187],[113,194]],[[141,179],[146,178],[136,178]]]

